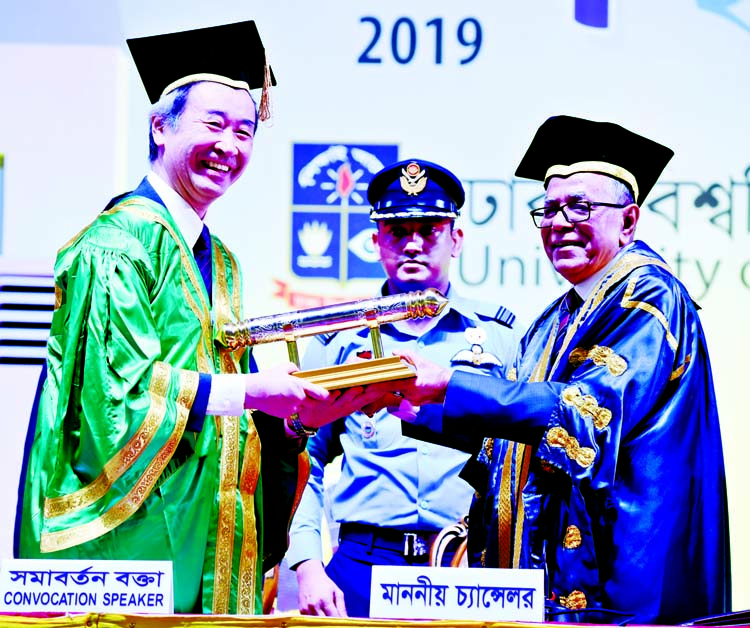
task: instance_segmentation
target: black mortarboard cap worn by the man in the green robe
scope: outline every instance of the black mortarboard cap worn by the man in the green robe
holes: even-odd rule
[[[180,84],[198,80],[214,80],[246,89],[263,88],[264,95],[271,85],[276,85],[252,20],[136,37],[127,43],[152,104],[167,88],[171,91]]]

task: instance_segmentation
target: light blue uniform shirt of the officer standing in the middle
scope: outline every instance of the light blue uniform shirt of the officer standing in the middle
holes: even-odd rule
[[[437,364],[501,377],[512,365],[518,335],[505,308],[468,301],[451,289],[449,304],[421,336],[403,326],[380,327],[385,355],[395,349],[418,353]],[[316,336],[303,369],[342,364],[371,352],[368,329]],[[380,411],[361,412],[322,428],[310,438],[310,480],[292,522],[287,560],[291,566],[322,560],[323,470],[343,453],[341,477],[332,490],[332,514],[339,523],[363,523],[404,531],[437,532],[466,514],[471,487],[458,473],[468,455],[401,433],[401,421]]]

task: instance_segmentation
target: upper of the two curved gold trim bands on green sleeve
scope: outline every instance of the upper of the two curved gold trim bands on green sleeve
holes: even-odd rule
[[[164,420],[165,396],[169,387],[170,368],[163,362],[154,364],[148,393],[151,397],[146,417],[125,446],[107,461],[102,472],[83,488],[44,500],[44,517],[52,519],[82,510],[107,494],[112,485],[138,460]]]

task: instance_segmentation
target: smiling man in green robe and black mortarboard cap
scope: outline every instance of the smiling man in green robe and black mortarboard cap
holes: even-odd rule
[[[128,43],[152,170],[58,253],[16,553],[169,560],[176,612],[258,613],[309,469],[275,417],[333,398],[213,342],[243,318],[242,278],[203,219],[247,165],[271,74],[253,22]]]

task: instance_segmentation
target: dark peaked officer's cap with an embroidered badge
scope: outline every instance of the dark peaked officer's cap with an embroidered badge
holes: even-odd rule
[[[367,188],[371,220],[457,218],[464,199],[464,188],[456,175],[423,159],[386,166]]]

